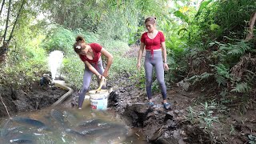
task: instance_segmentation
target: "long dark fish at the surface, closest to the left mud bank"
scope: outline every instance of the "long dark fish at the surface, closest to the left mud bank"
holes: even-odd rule
[[[38,130],[46,130],[48,127],[43,123],[35,119],[31,118],[22,118],[22,117],[14,117],[10,118],[12,121],[20,123],[20,124],[25,124],[28,126],[34,126],[38,128]]]

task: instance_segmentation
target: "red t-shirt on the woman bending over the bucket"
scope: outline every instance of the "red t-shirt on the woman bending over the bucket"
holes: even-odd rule
[[[96,63],[98,62],[99,58],[101,57],[101,50],[102,50],[102,46],[100,46],[98,43],[89,43],[88,44],[91,49],[94,51],[94,59],[90,60],[89,58],[86,57],[86,55],[82,55],[79,54],[80,59],[82,60],[82,62],[90,62],[90,63]]]

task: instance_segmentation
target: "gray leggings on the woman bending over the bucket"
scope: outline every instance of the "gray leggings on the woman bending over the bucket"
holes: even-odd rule
[[[94,66],[94,68],[98,71],[99,74],[103,74],[104,69],[102,66],[102,58],[99,59],[97,66],[94,63],[92,63],[91,65]],[[87,66],[85,66],[85,71],[83,74],[82,90],[80,90],[80,94],[78,98],[78,107],[82,107],[82,103],[85,100],[86,92],[88,91],[90,86],[90,80],[92,75],[93,73],[88,69]],[[98,85],[99,85],[100,79],[98,77],[97,79],[98,79]],[[102,89],[104,89],[103,86],[102,86]]]

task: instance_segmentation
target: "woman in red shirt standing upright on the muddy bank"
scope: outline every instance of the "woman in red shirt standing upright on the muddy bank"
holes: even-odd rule
[[[146,94],[149,98],[149,105],[154,106],[152,102],[152,75],[155,70],[158,83],[162,93],[162,103],[166,109],[170,109],[170,103],[166,101],[166,84],[164,82],[164,70],[169,70],[166,61],[166,44],[165,37],[161,31],[156,29],[155,18],[149,17],[145,20],[147,31],[142,34],[140,50],[138,51],[137,69],[141,68],[141,59],[144,49],[146,49],[145,56],[145,73],[146,73]],[[163,56],[163,62],[162,62]]]

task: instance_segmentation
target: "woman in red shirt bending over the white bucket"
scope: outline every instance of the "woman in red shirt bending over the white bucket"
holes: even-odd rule
[[[98,43],[86,43],[81,36],[76,38],[74,43],[74,51],[79,54],[82,62],[85,63],[85,71],[83,74],[82,90],[78,98],[78,109],[82,108],[82,103],[85,99],[86,92],[90,86],[90,80],[93,74],[97,75],[98,84],[102,78],[109,75],[110,66],[113,62],[113,56]],[[102,66],[101,54],[106,56],[107,63],[105,70]]]

